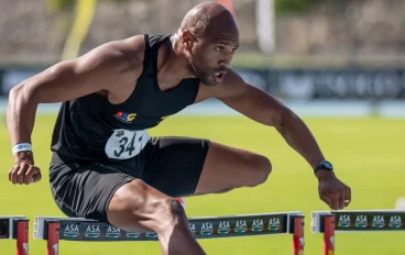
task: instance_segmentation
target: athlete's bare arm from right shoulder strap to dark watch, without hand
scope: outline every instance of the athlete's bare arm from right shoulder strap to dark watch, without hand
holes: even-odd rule
[[[311,132],[292,110],[265,91],[244,82],[233,70],[229,70],[222,84],[208,89],[211,97],[238,112],[274,126],[311,167],[325,159]],[[321,175],[322,171],[318,173]]]

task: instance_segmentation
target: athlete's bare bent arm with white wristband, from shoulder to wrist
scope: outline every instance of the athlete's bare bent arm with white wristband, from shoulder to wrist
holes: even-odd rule
[[[143,45],[139,41],[135,38],[101,45],[15,86],[10,91],[7,111],[11,145],[31,143],[39,103],[68,101],[97,91],[107,91],[109,100],[114,100],[117,91],[131,82],[133,85],[141,73],[136,46],[129,46],[130,43],[139,43],[142,49]],[[143,49],[139,52],[143,53]],[[14,158],[15,162],[29,159],[33,164],[30,152],[18,153]]]

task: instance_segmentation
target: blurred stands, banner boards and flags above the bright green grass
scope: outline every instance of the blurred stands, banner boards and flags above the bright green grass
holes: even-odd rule
[[[0,0],[1,110],[26,77],[112,40],[173,33],[199,2]],[[404,0],[219,2],[240,27],[233,68],[298,113],[405,117]],[[211,106],[234,113],[205,111]]]

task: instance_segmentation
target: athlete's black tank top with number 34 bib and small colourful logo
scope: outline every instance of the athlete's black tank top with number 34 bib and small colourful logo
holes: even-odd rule
[[[199,80],[184,79],[162,91],[157,84],[157,53],[169,35],[145,35],[143,71],[129,99],[111,104],[92,93],[63,102],[56,119],[52,152],[64,162],[117,162],[131,158],[149,140],[143,130],[195,102]],[[119,85],[117,85],[119,86]]]

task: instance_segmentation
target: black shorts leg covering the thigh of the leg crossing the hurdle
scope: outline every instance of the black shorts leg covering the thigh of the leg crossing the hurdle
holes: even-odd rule
[[[67,217],[108,222],[107,209],[114,192],[134,177],[119,166],[58,165],[50,169],[52,195]]]

